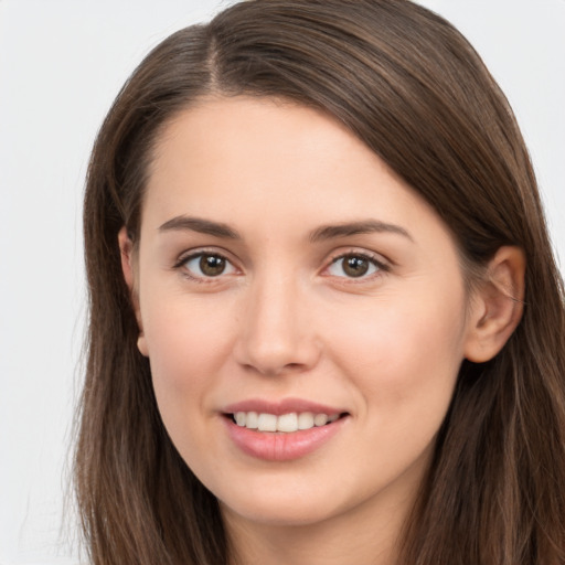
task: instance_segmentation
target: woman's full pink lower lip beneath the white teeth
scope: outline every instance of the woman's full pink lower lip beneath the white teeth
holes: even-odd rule
[[[266,461],[290,461],[316,451],[343,427],[347,417],[292,433],[257,431],[224,417],[232,441],[246,455]]]

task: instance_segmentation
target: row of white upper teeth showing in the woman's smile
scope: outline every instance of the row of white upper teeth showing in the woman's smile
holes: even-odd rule
[[[310,429],[315,426],[324,426],[335,422],[340,415],[332,414],[313,414],[311,412],[281,414],[257,414],[256,412],[236,412],[234,415],[235,423],[239,427],[248,429],[258,429],[259,431],[284,431],[292,433],[299,429]]]

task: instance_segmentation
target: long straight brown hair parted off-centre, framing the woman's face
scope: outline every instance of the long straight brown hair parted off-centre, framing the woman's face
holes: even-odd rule
[[[161,423],[120,269],[159,131],[200,97],[275,96],[342,121],[422,194],[465,264],[527,260],[523,319],[465,361],[403,542],[407,565],[565,562],[564,307],[532,166],[469,43],[406,0],[248,0],[157,46],[96,140],[84,222],[88,365],[76,488],[95,564],[230,561],[218,505]],[[370,526],[370,525],[367,525]]]

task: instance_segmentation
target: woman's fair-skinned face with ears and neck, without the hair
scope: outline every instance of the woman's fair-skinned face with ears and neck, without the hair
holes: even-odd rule
[[[461,361],[520,319],[520,252],[469,296],[445,224],[358,138],[246,97],[168,125],[119,242],[163,423],[241,563],[394,563]]]

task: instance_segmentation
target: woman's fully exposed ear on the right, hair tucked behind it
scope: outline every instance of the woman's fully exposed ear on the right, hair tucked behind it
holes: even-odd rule
[[[503,246],[489,262],[475,291],[465,356],[483,363],[504,347],[522,319],[525,257],[520,247]]]

